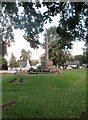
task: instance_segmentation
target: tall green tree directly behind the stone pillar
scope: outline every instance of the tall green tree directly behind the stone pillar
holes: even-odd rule
[[[69,43],[59,43],[61,37],[56,32],[56,27],[46,29],[45,36],[48,37],[49,58],[52,59],[54,65],[63,65],[66,60],[72,60],[68,53]],[[45,44],[43,44],[43,47]]]

